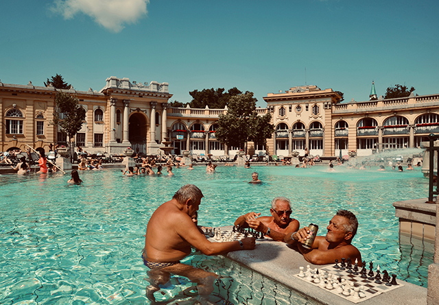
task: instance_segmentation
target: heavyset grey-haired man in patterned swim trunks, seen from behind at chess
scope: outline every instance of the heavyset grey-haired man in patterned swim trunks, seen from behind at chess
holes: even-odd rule
[[[152,302],[155,302],[154,292],[160,290],[158,285],[166,284],[170,273],[196,282],[201,302],[213,291],[215,273],[180,263],[182,258],[191,254],[191,246],[206,255],[254,249],[254,239],[250,237],[225,243],[208,241],[191,219],[198,211],[202,197],[197,186],[186,184],[169,202],[157,208],[147,224],[142,257],[145,266],[150,268],[148,281],[151,285],[147,286],[146,295]]]

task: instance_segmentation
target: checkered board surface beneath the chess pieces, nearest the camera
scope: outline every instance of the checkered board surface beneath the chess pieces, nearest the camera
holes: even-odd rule
[[[306,269],[305,269],[306,270]],[[304,271],[305,271],[304,270]],[[309,277],[306,275],[304,277],[300,277],[299,274],[295,274],[296,278],[300,278],[300,280],[304,280],[305,282],[309,282],[310,284],[313,284],[314,286],[318,286],[320,289],[324,289],[326,291],[329,291],[335,295],[338,295],[345,300],[351,301],[353,303],[359,303],[363,302],[365,300],[369,300],[371,297],[375,297],[377,295],[380,295],[381,293],[386,293],[388,291],[392,291],[394,289],[397,289],[399,287],[404,286],[401,281],[396,280],[397,284],[392,286],[386,286],[385,283],[377,284],[375,283],[375,280],[368,280],[367,278],[361,278],[361,274],[354,275],[353,273],[346,272],[347,270],[340,270],[336,269],[332,266],[328,267],[322,267],[321,269],[318,269],[319,273],[322,273],[322,271],[325,271],[326,273],[326,279],[324,279],[323,282],[327,283],[331,280],[327,279],[328,273],[332,273],[332,280],[338,279],[339,277],[344,279],[344,282],[342,284],[346,284],[350,286],[349,292],[353,291],[354,288],[357,288],[360,292],[364,293],[364,295],[361,295],[361,297],[354,297],[353,295],[344,295],[343,291],[340,291],[333,288],[333,289],[327,289],[326,284],[323,285],[321,282],[316,283],[314,282],[315,278],[318,277],[316,275],[316,269],[311,269],[312,274],[312,280],[309,280]],[[334,279],[335,278],[335,279]],[[338,280],[337,280],[338,282]],[[352,284],[351,284],[352,283]]]

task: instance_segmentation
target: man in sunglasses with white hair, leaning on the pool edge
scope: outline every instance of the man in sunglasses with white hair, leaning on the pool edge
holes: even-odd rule
[[[259,217],[261,213],[248,212],[235,221],[241,228],[252,228],[269,236],[274,241],[284,241],[285,236],[291,236],[299,228],[299,221],[289,216],[292,214],[291,202],[285,197],[276,197],[270,208],[272,216]]]

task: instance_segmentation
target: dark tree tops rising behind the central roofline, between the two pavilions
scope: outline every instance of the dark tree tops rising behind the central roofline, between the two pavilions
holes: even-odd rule
[[[192,101],[189,103],[191,108],[206,108],[209,106],[211,109],[223,109],[228,106],[230,97],[240,95],[242,92],[236,87],[228,89],[228,92],[224,92],[224,88],[203,89],[202,91],[193,90],[189,92],[192,97]]]

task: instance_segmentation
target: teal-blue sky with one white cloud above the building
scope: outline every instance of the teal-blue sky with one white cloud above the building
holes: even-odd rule
[[[316,85],[366,101],[395,84],[439,93],[439,1],[1,1],[0,81],[76,90],[106,78],[263,97]]]

